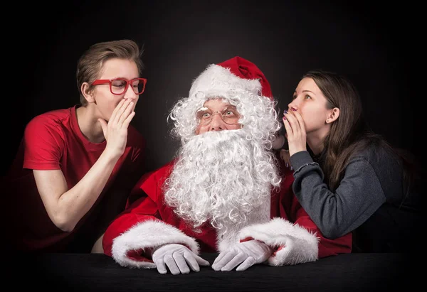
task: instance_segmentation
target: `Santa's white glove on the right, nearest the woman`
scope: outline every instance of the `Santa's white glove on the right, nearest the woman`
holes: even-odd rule
[[[239,242],[231,250],[221,252],[212,264],[212,269],[231,271],[241,264],[236,271],[244,271],[254,264],[263,263],[271,254],[273,254],[273,249],[264,242],[258,242],[258,240]]]

